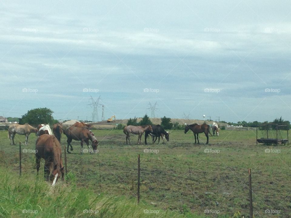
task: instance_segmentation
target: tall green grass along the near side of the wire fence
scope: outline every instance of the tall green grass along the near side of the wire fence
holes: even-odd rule
[[[137,204],[134,197],[114,197],[43,177],[0,170],[0,217],[198,217]],[[148,213],[147,213],[148,212]],[[201,217],[201,216],[199,216]]]

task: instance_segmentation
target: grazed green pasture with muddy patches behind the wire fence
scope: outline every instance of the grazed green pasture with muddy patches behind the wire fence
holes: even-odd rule
[[[166,144],[152,144],[149,138],[148,145],[137,145],[136,136],[131,137],[132,145],[126,145],[122,130],[93,130],[93,132],[100,141],[98,154],[80,154],[80,143],[76,141],[72,142],[74,147],[72,154],[67,154],[68,184],[60,183],[59,186],[69,186],[69,193],[71,187],[75,186],[78,192],[84,190],[84,195],[89,192],[93,196],[99,194],[105,197],[117,196],[121,202],[130,202],[130,206],[137,207],[134,202],[137,189],[137,157],[140,154],[141,202],[135,210],[142,212],[138,213],[137,217],[159,215],[229,218],[238,211],[241,214],[239,217],[248,217],[248,168],[252,169],[255,217],[273,215],[291,217],[289,197],[291,150],[287,145],[278,145],[276,148],[256,145],[256,133],[251,130],[221,130],[219,137],[209,137],[208,145],[203,144],[206,137],[202,134],[200,134],[201,144],[193,144],[192,132],[184,134],[183,130],[172,131],[170,141]],[[285,137],[286,132],[282,134]],[[15,143],[19,143],[19,140],[24,142],[24,136],[16,137]],[[8,176],[18,173],[19,150],[18,146],[9,145],[7,131],[0,131],[0,139],[0,176],[3,180],[6,178],[5,173]],[[36,136],[31,134],[28,146],[22,145],[22,148],[34,149],[35,140]],[[66,145],[65,135],[62,136],[62,145]],[[145,153],[144,149],[150,152]],[[34,154],[22,153],[22,175],[23,177],[31,175],[29,178],[32,181],[36,180]],[[42,175],[39,177],[42,178]],[[18,180],[15,176],[13,179]],[[46,184],[39,182],[42,186]],[[46,189],[44,188],[45,194]],[[65,188],[60,190],[62,191],[65,192]],[[43,196],[46,196],[45,194]],[[68,198],[72,200],[74,194],[76,193],[72,193],[71,198]],[[61,199],[59,204],[69,207],[69,202],[63,202],[65,198]],[[97,205],[98,210],[102,210],[102,205],[96,202],[89,202],[91,206],[87,207],[97,208],[95,206]],[[74,203],[72,202],[72,206]],[[3,208],[2,205],[4,204],[1,203],[0,208]],[[28,210],[28,205],[22,208]],[[55,210],[61,210],[60,208],[61,206]],[[149,214],[143,213],[143,210],[161,212]],[[75,217],[82,215],[84,216],[81,214]],[[108,214],[91,215],[106,217]],[[66,215],[59,217],[62,216],[67,217]]]

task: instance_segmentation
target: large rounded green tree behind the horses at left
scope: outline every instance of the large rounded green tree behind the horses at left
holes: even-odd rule
[[[52,117],[53,111],[49,108],[35,108],[27,111],[26,114],[22,115],[21,119],[19,119],[20,124],[54,124],[55,120]]]

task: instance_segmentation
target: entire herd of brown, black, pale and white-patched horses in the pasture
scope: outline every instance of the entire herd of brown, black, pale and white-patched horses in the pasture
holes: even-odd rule
[[[25,145],[28,143],[28,136],[31,133],[35,133],[38,136],[38,139],[35,143],[35,153],[36,157],[36,170],[37,173],[40,167],[40,160],[43,158],[45,160],[44,165],[44,177],[46,181],[58,180],[60,175],[62,175],[62,180],[64,179],[64,166],[62,162],[62,149],[61,149],[61,136],[65,134],[67,136],[67,153],[69,152],[69,146],[71,151],[73,147],[71,145],[72,140],[80,141],[81,142],[81,154],[83,152],[83,143],[85,142],[89,148],[90,154],[93,152],[97,152],[98,141],[94,136],[94,133],[90,130],[90,125],[85,123],[75,123],[72,126],[64,128],[62,124],[55,124],[53,126],[53,131],[51,130],[50,126],[47,124],[39,124],[37,128],[32,127],[29,124],[12,124],[8,128],[8,138],[10,139],[10,144],[14,144],[14,137],[15,134],[25,135]],[[210,126],[207,124],[185,124],[185,131],[186,134],[189,130],[192,130],[195,138],[196,137],[199,144],[199,133],[204,133],[208,144],[208,134],[210,133]],[[213,135],[218,136],[219,128],[216,123],[212,123],[212,132]],[[123,133],[126,135],[126,144],[131,144],[130,141],[130,134],[138,135],[138,144],[141,144],[141,137],[142,134],[145,133],[145,144],[147,144],[147,137],[150,135],[152,137],[152,143],[155,143],[157,138],[162,137],[163,143],[166,139],[169,141],[169,132],[165,131],[160,125],[146,125],[146,126],[126,126],[123,129]],[[92,142],[92,149],[89,145],[89,140]]]

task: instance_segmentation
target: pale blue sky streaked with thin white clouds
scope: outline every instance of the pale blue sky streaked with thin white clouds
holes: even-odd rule
[[[289,1],[0,0],[0,115],[291,120]]]

